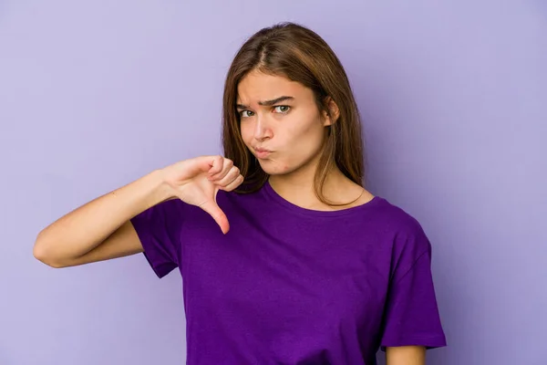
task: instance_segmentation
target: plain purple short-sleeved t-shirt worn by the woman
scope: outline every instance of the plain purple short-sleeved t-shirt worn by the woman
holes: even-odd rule
[[[131,220],[156,275],[181,272],[188,364],[371,365],[446,345],[428,237],[385,198],[322,212],[265,183],[217,203],[227,235],[181,200]]]

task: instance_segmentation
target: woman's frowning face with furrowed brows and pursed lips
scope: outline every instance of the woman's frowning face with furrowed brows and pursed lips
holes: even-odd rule
[[[253,71],[238,85],[242,138],[270,175],[315,169],[331,120],[311,89],[283,76]]]

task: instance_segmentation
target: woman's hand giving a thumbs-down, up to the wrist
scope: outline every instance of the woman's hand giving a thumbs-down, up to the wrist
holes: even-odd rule
[[[230,192],[243,183],[243,176],[233,162],[222,156],[200,156],[173,163],[162,169],[173,196],[196,205],[212,216],[226,234],[228,218],[216,203],[219,190]]]

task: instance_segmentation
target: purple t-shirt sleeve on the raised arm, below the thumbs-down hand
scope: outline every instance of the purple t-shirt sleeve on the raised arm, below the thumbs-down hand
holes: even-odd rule
[[[156,204],[130,220],[139,235],[144,256],[160,278],[180,264],[183,207],[180,199],[172,199]]]

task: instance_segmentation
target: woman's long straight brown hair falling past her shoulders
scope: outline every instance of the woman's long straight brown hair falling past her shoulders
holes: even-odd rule
[[[269,177],[243,142],[236,109],[238,84],[253,70],[284,76],[312,89],[317,107],[322,112],[329,112],[329,97],[337,105],[339,117],[326,127],[329,130],[315,172],[315,194],[321,202],[327,203],[323,185],[334,163],[347,178],[363,186],[364,147],[360,116],[346,71],[321,36],[304,26],[281,23],[265,27],[247,39],[234,57],[226,77],[222,111],[224,157],[232,160],[245,177],[235,192],[255,192]]]

